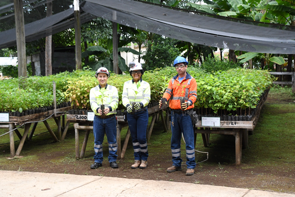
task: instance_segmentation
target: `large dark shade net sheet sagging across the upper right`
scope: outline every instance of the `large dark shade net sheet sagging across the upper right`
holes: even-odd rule
[[[126,26],[183,41],[242,51],[295,53],[295,28],[289,26],[246,24],[134,0],[86,0],[82,9]]]

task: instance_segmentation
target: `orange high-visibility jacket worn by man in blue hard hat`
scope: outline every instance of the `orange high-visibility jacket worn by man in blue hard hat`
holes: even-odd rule
[[[178,74],[170,79],[168,87],[164,92],[163,98],[169,101],[171,109],[181,109],[180,98],[184,97],[185,101],[190,100],[192,105],[187,109],[193,108],[197,99],[197,82],[194,77],[186,72],[185,78],[179,83]]]

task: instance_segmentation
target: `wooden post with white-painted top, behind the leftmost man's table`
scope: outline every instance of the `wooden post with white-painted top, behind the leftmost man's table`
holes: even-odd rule
[[[82,69],[81,20],[79,0],[74,0],[76,69]]]

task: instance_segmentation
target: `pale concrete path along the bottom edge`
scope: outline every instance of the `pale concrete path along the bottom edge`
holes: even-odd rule
[[[162,180],[0,170],[0,196],[294,197],[295,194]]]

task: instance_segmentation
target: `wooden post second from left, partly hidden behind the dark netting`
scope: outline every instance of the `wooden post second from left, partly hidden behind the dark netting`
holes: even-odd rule
[[[52,2],[47,0],[46,16],[52,15]],[[45,42],[45,75],[52,74],[52,29],[47,30],[50,35],[46,37]]]

